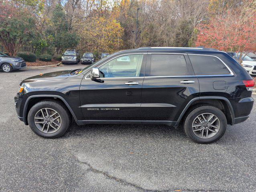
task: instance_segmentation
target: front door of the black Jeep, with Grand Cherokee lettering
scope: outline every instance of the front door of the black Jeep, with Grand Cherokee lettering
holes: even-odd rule
[[[120,58],[128,56],[129,61]],[[80,87],[85,120],[140,120],[146,53],[113,56],[97,66],[102,76],[85,75]]]

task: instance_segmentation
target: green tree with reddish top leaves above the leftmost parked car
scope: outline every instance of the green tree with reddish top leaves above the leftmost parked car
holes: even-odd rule
[[[36,22],[26,8],[11,2],[0,2],[0,42],[10,56],[36,34]]]

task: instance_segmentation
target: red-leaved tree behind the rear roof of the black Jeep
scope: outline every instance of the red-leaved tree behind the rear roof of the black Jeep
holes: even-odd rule
[[[196,46],[239,52],[240,62],[248,52],[256,52],[256,10],[253,6],[213,16],[198,29]]]

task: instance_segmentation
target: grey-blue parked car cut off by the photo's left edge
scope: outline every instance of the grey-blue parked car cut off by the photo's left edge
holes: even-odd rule
[[[0,70],[3,72],[12,72],[26,67],[26,62],[21,57],[10,57],[0,52]]]

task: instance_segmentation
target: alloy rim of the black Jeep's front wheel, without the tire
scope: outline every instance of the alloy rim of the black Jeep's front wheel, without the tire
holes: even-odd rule
[[[61,116],[51,108],[42,108],[34,118],[35,125],[43,133],[54,133],[61,127]]]

